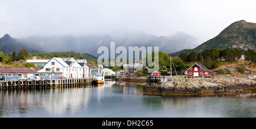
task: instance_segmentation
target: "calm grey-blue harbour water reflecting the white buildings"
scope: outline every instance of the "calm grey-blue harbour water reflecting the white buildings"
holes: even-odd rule
[[[256,117],[255,93],[160,96],[142,94],[142,86],[136,84],[106,83],[90,88],[0,91],[0,117]]]

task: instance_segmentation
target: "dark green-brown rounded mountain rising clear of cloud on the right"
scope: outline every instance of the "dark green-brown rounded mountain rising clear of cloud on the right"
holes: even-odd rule
[[[246,22],[245,20],[239,20],[230,24],[224,30],[220,32],[214,38],[205,41],[193,49],[183,49],[175,53],[170,53],[171,56],[178,56],[180,53],[188,53],[192,51],[202,52],[204,49],[212,48],[238,48],[244,51],[247,49],[256,50],[256,23]]]

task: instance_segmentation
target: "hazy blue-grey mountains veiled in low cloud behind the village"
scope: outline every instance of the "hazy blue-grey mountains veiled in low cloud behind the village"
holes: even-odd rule
[[[40,45],[49,52],[76,51],[99,56],[97,49],[101,46],[110,48],[110,42],[115,42],[115,48],[126,47],[159,47],[159,51],[172,53],[185,48],[195,48],[199,45],[195,36],[185,32],[177,32],[171,36],[156,36],[142,31],[115,32],[109,35],[55,35],[55,36],[30,36],[23,40]]]

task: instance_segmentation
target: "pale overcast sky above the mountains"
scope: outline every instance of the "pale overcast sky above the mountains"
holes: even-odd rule
[[[183,31],[202,43],[237,20],[256,23],[255,0],[0,0],[0,37]]]

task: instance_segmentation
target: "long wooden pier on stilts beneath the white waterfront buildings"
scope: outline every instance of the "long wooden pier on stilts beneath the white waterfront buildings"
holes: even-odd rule
[[[49,79],[49,80],[6,80],[6,81],[0,81],[0,90],[75,88],[80,86],[90,86],[92,84],[93,84],[93,77],[63,78],[63,79]]]

